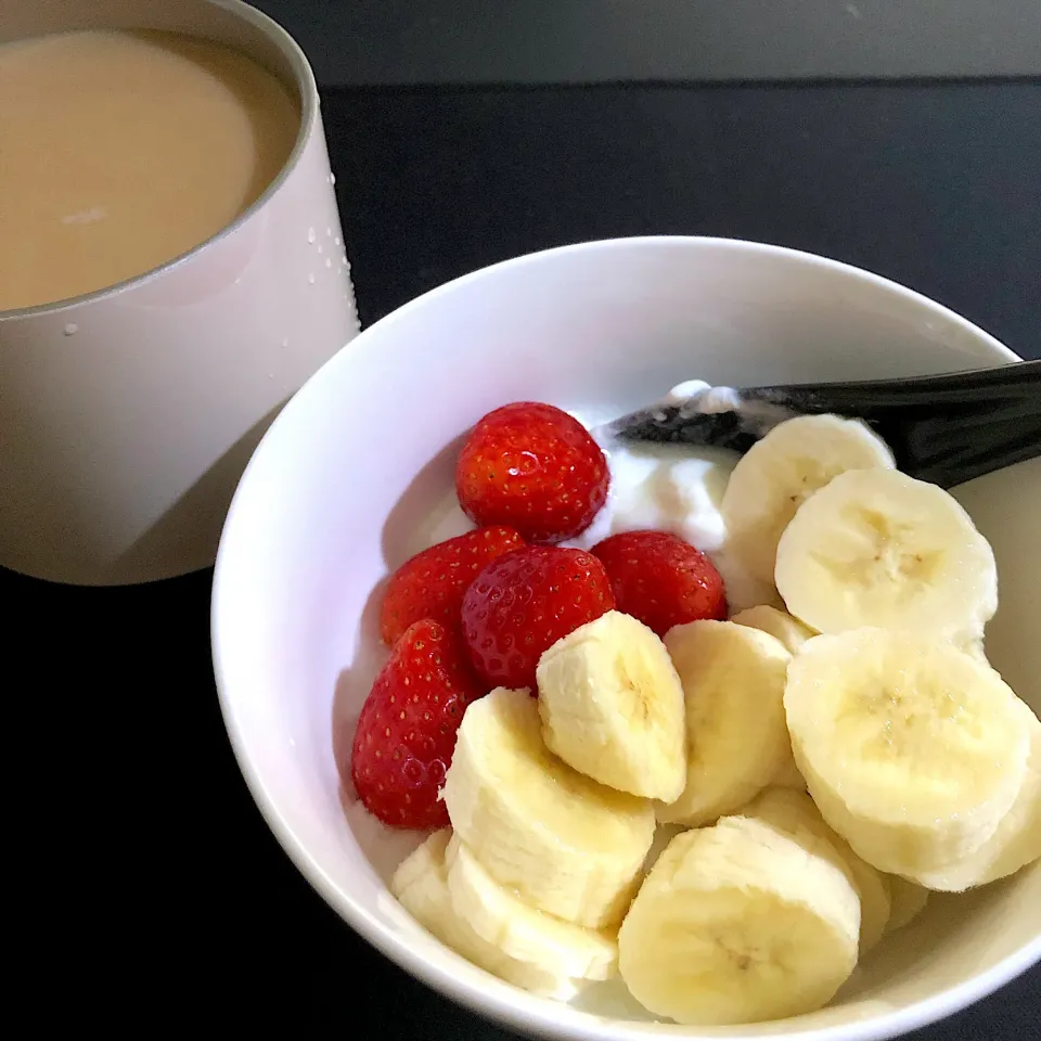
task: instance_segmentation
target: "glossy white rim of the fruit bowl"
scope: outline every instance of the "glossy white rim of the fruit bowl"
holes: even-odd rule
[[[347,347],[337,351],[297,390],[272,422],[243,472],[224,518],[214,569],[210,601],[210,645],[221,716],[249,794],[285,853],[336,914],[372,947],[414,978],[485,1018],[504,1024],[527,1036],[553,1038],[558,1039],[558,1041],[651,1041],[653,1038],[663,1037],[698,1041],[699,1038],[733,1037],[733,1034],[721,1033],[718,1028],[710,1028],[709,1032],[706,1033],[696,1032],[699,1028],[683,1027],[671,1023],[599,1017],[550,999],[537,998],[520,990],[505,987],[505,985],[501,993],[498,989],[489,993],[481,989],[476,981],[458,975],[451,967],[450,961],[447,963],[435,961],[417,953],[406,938],[385,927],[365,908],[356,902],[349,892],[342,890],[311,857],[304,843],[295,834],[292,824],[283,817],[269,794],[261,771],[252,758],[249,748],[235,724],[235,697],[230,692],[227,682],[221,639],[222,618],[224,616],[223,605],[229,602],[223,561],[228,552],[228,539],[230,536],[233,537],[234,529],[239,525],[237,514],[243,489],[252,480],[257,459],[268,450],[271,441],[281,437],[281,430],[284,426],[295,422],[296,413],[307,408],[311,385],[327,378],[326,370],[348,363],[342,358],[348,350],[352,355],[357,355],[359,351],[363,352],[372,349],[370,344],[378,338],[377,331],[394,325],[412,311],[426,306],[432,299],[451,295],[461,287],[487,278],[493,278],[503,269],[538,264],[548,257],[564,254],[658,248],[661,245],[678,248],[690,246],[699,248],[724,247],[835,271],[854,280],[873,284],[889,295],[910,300],[924,311],[933,312],[936,317],[961,326],[963,332],[969,334],[980,346],[992,354],[998,363],[1021,360],[990,333],[922,293],[864,268],[787,246],[722,236],[633,235],[590,240],[522,254],[452,279],[390,311],[364,329]],[[884,1041],[884,1039],[896,1038],[966,1008],[993,993],[1038,962],[1041,962],[1041,935],[987,972],[980,973],[964,982],[948,987],[946,990],[916,1001],[904,1008],[873,1015],[853,1024],[808,1027],[805,1030],[797,1030],[779,1037],[784,1037],[787,1041]]]

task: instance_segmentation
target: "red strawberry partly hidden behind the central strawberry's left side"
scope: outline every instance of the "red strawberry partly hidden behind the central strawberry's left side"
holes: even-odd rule
[[[513,528],[478,528],[406,561],[390,576],[380,612],[383,642],[395,642],[414,621],[433,618],[459,629],[459,608],[477,573],[507,550],[524,545]]]

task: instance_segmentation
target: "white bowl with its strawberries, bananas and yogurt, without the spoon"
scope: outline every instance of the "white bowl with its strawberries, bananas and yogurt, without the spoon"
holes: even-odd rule
[[[215,580],[286,850],[537,1036],[891,1037],[1032,965],[1037,462],[951,497],[841,417],[741,460],[599,435],[692,377],[1012,357],[717,240],[520,258],[365,332],[261,445]]]

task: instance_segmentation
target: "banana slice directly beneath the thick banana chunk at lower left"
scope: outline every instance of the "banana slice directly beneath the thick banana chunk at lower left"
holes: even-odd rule
[[[453,835],[445,862],[455,915],[483,940],[553,976],[608,979],[618,967],[618,937],[544,914],[500,886]]]

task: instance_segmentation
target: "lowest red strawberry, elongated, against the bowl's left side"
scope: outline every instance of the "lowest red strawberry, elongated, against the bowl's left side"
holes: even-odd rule
[[[390,827],[448,824],[437,793],[463,712],[485,689],[458,633],[428,618],[406,630],[362,706],[350,757],[358,796]]]

